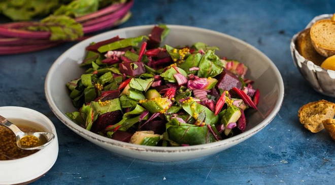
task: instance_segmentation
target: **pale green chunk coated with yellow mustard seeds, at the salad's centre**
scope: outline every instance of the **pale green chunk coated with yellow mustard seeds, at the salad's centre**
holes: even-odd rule
[[[168,98],[153,98],[141,103],[144,108],[146,108],[151,113],[166,111],[172,104],[171,100]]]

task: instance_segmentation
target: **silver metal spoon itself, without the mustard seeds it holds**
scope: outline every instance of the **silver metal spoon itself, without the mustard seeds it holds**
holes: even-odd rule
[[[53,138],[55,138],[55,135],[49,132],[22,132],[16,125],[14,125],[11,121],[9,121],[7,118],[0,115],[0,125],[3,125],[7,128],[9,128],[16,136],[16,145],[25,150],[34,150],[34,149],[42,149],[46,147],[48,144],[51,143]],[[20,140],[24,136],[32,135],[39,139],[39,141],[44,141],[43,143],[40,143],[39,146],[22,146]]]

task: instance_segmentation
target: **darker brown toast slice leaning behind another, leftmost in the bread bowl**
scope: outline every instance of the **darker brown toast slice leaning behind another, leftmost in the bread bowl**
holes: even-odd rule
[[[314,64],[320,66],[321,63],[326,59],[324,56],[321,56],[316,50],[311,41],[310,37],[310,28],[303,30],[300,32],[298,37],[296,38],[296,49],[304,56],[304,58],[313,61]]]

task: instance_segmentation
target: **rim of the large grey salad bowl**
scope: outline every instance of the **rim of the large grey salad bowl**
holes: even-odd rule
[[[125,28],[121,28],[121,29],[115,29],[115,30],[111,30],[102,34],[98,34],[96,36],[93,36],[89,39],[86,39],[84,41],[88,42],[89,41],[94,41],[99,37],[104,37],[106,36],[106,38],[110,37],[109,35],[113,35],[119,32],[127,32],[128,30],[133,30],[133,29],[148,29],[148,28],[152,28],[154,26],[154,24],[151,25],[140,25],[140,26],[131,26],[131,27],[125,27]],[[213,142],[213,143],[206,143],[206,144],[199,144],[199,145],[192,145],[192,146],[172,146],[172,147],[164,147],[164,146],[145,146],[145,145],[138,145],[138,144],[132,144],[132,143],[126,143],[126,142],[122,142],[122,141],[117,141],[105,136],[101,136],[98,134],[95,134],[91,131],[88,131],[82,127],[80,127],[79,125],[75,124],[75,122],[73,122],[70,118],[66,117],[59,109],[58,107],[55,105],[54,100],[51,97],[51,74],[55,73],[56,67],[62,62],[63,58],[65,58],[65,56],[67,56],[68,54],[70,54],[71,50],[73,50],[73,48],[78,47],[79,45],[81,45],[83,43],[79,42],[76,45],[72,46],[71,48],[69,48],[68,50],[66,50],[64,53],[62,53],[56,60],[55,62],[52,64],[52,66],[50,67],[48,74],[46,76],[45,79],[45,96],[46,96],[46,100],[49,104],[50,109],[52,110],[52,112],[58,117],[58,119],[60,119],[61,122],[63,122],[63,124],[66,127],[69,127],[71,130],[73,130],[74,132],[76,132],[79,135],[85,135],[85,137],[91,138],[93,140],[97,140],[98,142],[103,142],[105,144],[108,145],[113,145],[115,147],[119,147],[119,148],[126,148],[126,149],[130,149],[130,150],[137,150],[137,151],[149,151],[149,152],[188,152],[188,151],[195,151],[195,150],[204,150],[204,149],[209,149],[209,148],[214,148],[214,147],[219,147],[219,146],[223,146],[223,145],[228,145],[230,143],[234,143],[236,141],[239,140],[244,140],[244,138],[249,138],[252,135],[254,135],[255,133],[257,133],[258,131],[260,131],[261,129],[263,129],[266,125],[268,125],[276,116],[276,114],[279,112],[282,103],[283,103],[283,98],[284,98],[284,82],[282,79],[282,76],[278,70],[278,68],[276,67],[276,65],[273,63],[273,61],[267,57],[264,53],[262,53],[261,51],[259,51],[257,48],[255,48],[254,46],[240,40],[237,39],[235,37],[229,36],[227,34],[223,34],[220,32],[216,32],[214,30],[210,30],[210,29],[205,29],[205,28],[199,28],[199,27],[193,27],[193,26],[184,26],[184,25],[173,25],[173,24],[168,24],[167,25],[170,29],[184,29],[184,30],[190,30],[194,31],[196,30],[197,32],[202,32],[202,33],[207,33],[207,34],[211,34],[211,35],[216,35],[218,37],[225,37],[228,38],[230,40],[233,40],[235,42],[241,43],[243,45],[246,45],[247,47],[250,47],[252,50],[254,50],[254,52],[256,52],[257,54],[259,54],[260,56],[262,56],[265,60],[267,60],[267,62],[269,63],[270,67],[273,68],[273,70],[275,71],[274,75],[276,76],[276,79],[279,81],[279,96],[278,96],[278,100],[274,106],[274,109],[271,111],[271,113],[266,116],[258,125],[256,125],[255,127],[253,127],[252,129],[238,134],[236,136],[233,136],[231,138],[227,138],[221,141],[217,141],[217,142]]]

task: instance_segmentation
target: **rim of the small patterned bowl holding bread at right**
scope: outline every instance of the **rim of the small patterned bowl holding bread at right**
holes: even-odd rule
[[[314,70],[314,71],[317,71],[317,72],[326,72],[328,73],[328,71],[330,72],[335,72],[334,70],[329,70],[329,69],[324,69],[322,68],[321,66],[318,66],[316,64],[314,64],[313,61],[305,58],[303,55],[301,55],[298,50],[296,49],[296,46],[295,46],[295,41],[296,41],[296,38],[298,37],[298,35],[303,32],[305,29],[307,28],[310,28],[316,21],[318,20],[322,20],[322,19],[328,19],[332,16],[333,14],[321,14],[321,15],[318,15],[318,16],[315,16],[307,25],[306,27],[303,29],[303,30],[300,30],[299,32],[297,32],[296,34],[294,34],[291,38],[291,43],[290,45],[292,46],[292,48],[294,49],[294,54],[298,54],[299,55],[299,58],[303,58],[304,59],[304,62],[303,64],[306,64],[306,65],[312,65],[312,69],[317,69],[317,70]],[[294,58],[293,58],[293,63],[294,63]],[[307,64],[309,63],[309,64]],[[295,64],[295,63],[294,63]]]

